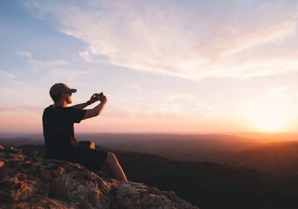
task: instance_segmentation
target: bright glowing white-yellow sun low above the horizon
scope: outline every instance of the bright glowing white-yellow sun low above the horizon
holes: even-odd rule
[[[288,125],[287,115],[287,110],[281,105],[263,104],[251,111],[250,120],[261,131],[278,132]]]

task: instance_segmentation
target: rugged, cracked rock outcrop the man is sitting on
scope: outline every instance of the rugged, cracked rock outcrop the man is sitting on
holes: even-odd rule
[[[0,145],[0,208],[198,208],[174,192]]]

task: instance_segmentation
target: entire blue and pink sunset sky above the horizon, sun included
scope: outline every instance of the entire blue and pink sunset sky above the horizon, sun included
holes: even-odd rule
[[[296,132],[297,23],[297,1],[0,1],[0,132],[42,133],[55,83],[107,96],[78,133]]]

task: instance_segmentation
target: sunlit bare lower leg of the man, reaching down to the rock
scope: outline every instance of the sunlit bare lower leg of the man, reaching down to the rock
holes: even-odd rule
[[[107,159],[104,162],[104,164],[107,164],[109,169],[111,170],[112,176],[118,180],[118,181],[127,181],[126,176],[119,165],[119,162],[114,155],[114,153],[108,152],[107,153]]]

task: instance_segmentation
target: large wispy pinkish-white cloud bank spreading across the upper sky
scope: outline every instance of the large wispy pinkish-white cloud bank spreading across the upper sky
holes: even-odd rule
[[[191,80],[297,69],[290,47],[297,43],[297,3],[214,3],[90,0],[27,6],[37,17],[56,18],[59,32],[87,43],[79,53],[87,62]]]

